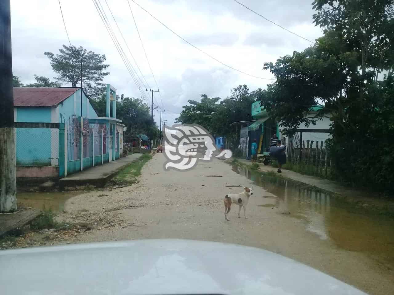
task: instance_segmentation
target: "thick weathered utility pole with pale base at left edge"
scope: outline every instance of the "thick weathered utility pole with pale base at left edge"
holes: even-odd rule
[[[17,210],[10,0],[0,0],[0,212]]]

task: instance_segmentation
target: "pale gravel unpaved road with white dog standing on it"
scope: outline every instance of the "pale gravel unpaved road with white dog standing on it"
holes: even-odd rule
[[[252,184],[226,162],[215,159],[187,172],[165,172],[163,163],[164,155],[156,154],[144,166],[138,184],[69,199],[66,213],[59,218],[97,224],[93,230],[75,234],[71,242],[182,238],[238,243],[293,258],[370,294],[392,294],[391,264],[338,247],[305,230],[305,221],[292,212],[282,214],[288,208],[272,209],[268,205],[272,200],[267,198],[272,194],[261,187],[253,187],[247,207],[249,219],[237,218],[238,208],[233,206],[230,221],[225,221],[224,195]]]

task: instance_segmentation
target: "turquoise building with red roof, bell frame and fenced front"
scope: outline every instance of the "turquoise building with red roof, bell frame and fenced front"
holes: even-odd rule
[[[62,133],[59,128],[16,128],[17,177],[18,170],[20,177],[28,177],[32,167],[41,167],[42,177],[63,177],[120,157],[125,125],[116,118],[116,89],[111,85],[105,117],[98,116],[77,87],[14,87],[13,96],[15,122],[61,123],[64,128]],[[99,130],[104,130],[101,138]]]

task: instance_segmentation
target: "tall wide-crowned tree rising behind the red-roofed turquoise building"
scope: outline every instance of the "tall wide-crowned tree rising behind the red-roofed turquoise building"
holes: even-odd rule
[[[71,83],[72,87],[80,85],[81,80],[81,60],[82,60],[82,87],[86,94],[93,99],[99,99],[106,92],[106,86],[102,83],[103,78],[109,72],[104,72],[109,65],[105,64],[104,54],[97,54],[87,51],[82,46],[63,45],[59,49],[60,54],[54,55],[52,52],[44,52],[50,59],[52,70],[59,76],[58,81]]]

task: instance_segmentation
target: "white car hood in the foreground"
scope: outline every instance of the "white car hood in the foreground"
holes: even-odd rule
[[[3,294],[365,294],[262,249],[138,240],[0,251]]]

